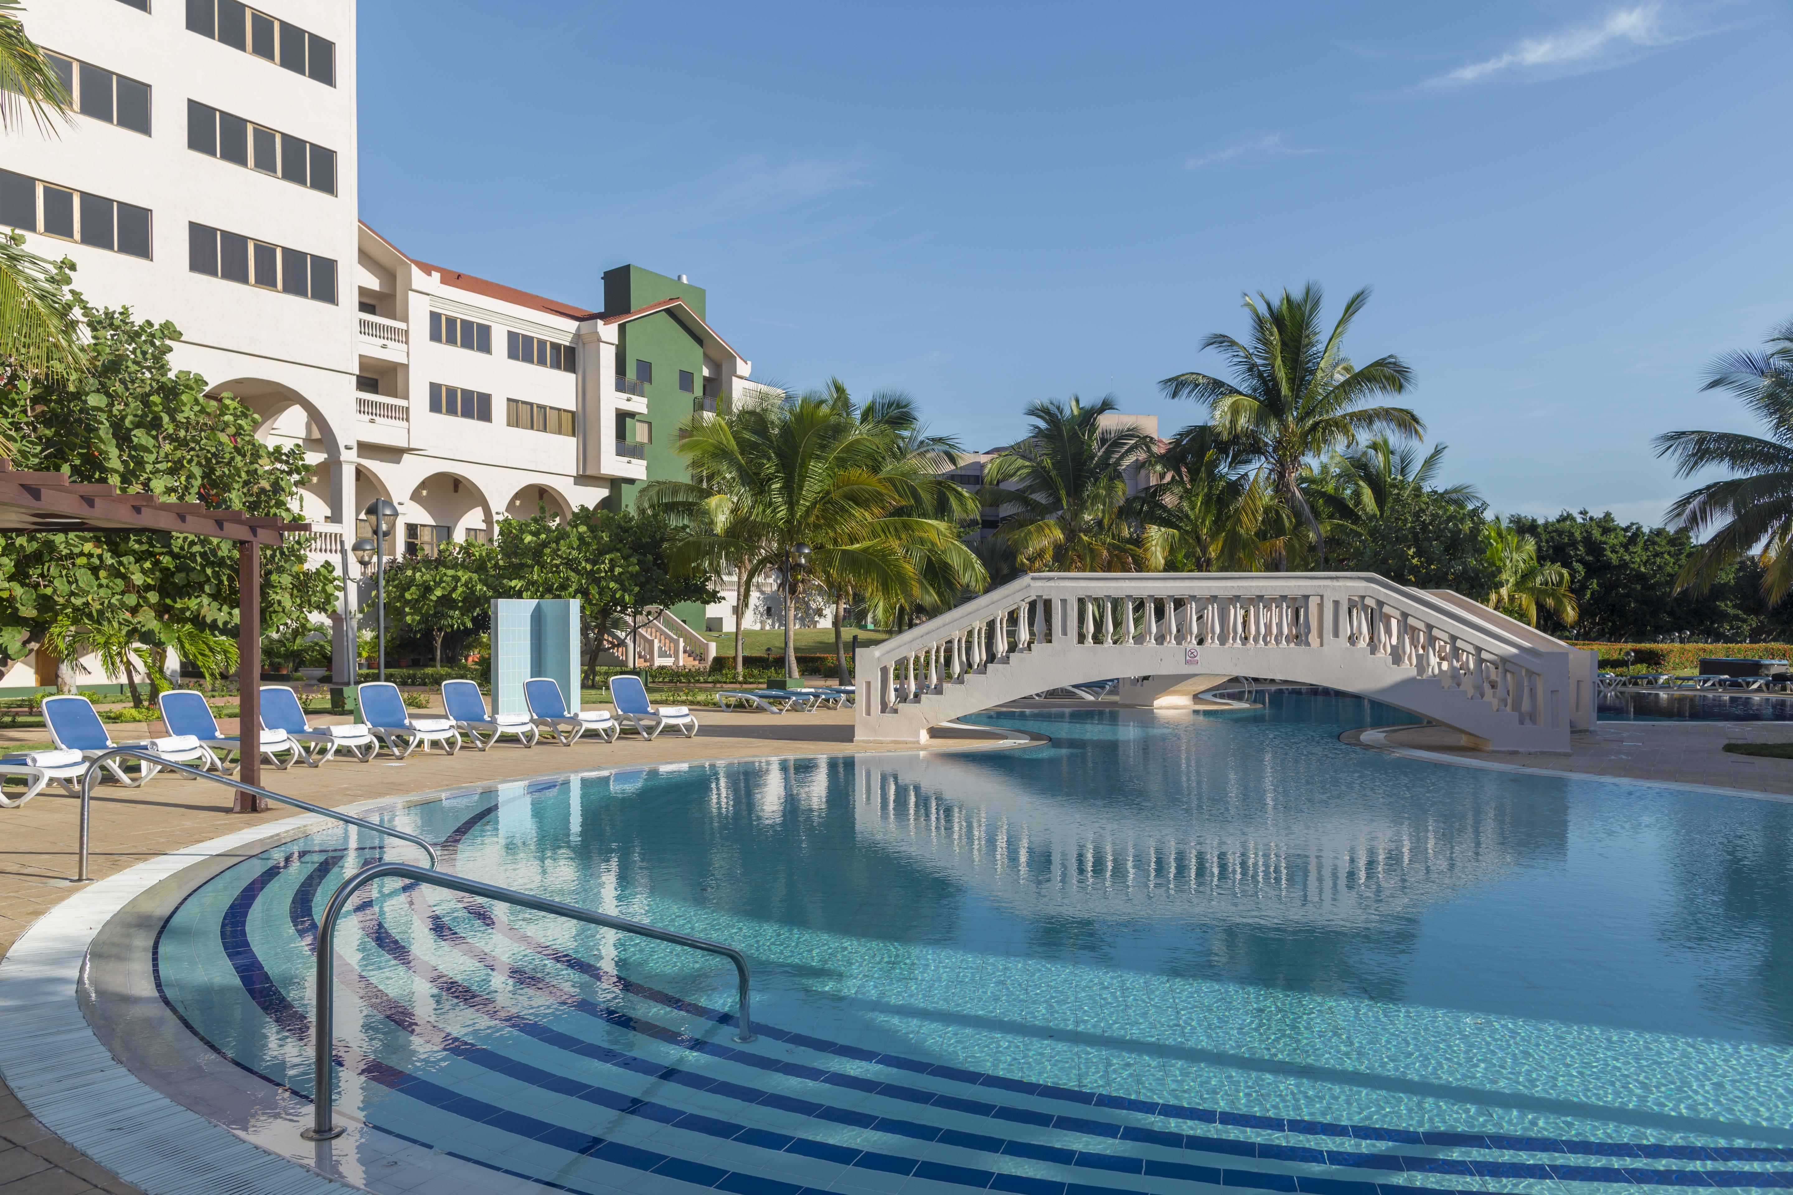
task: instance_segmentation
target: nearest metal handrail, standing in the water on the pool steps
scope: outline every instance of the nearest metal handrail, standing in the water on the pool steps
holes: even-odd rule
[[[335,941],[335,923],[337,917],[342,916],[342,910],[348,908],[350,898],[355,896],[359,889],[387,876],[400,876],[416,883],[430,883],[439,889],[466,892],[468,896],[484,896],[491,901],[522,905],[524,908],[554,914],[556,917],[567,917],[568,921],[585,921],[586,924],[604,926],[606,930],[640,933],[642,937],[660,939],[662,942],[672,942],[674,946],[689,946],[712,955],[723,955],[735,964],[735,976],[741,980],[741,1032],[735,1034],[735,1041],[753,1041],[753,1019],[748,1009],[748,960],[733,946],[723,946],[721,942],[690,937],[689,933],[676,933],[672,930],[660,930],[651,924],[642,924],[640,921],[629,921],[628,917],[611,917],[610,914],[592,912],[590,908],[579,908],[577,905],[563,905],[561,901],[550,901],[547,898],[531,896],[529,892],[518,892],[515,889],[500,889],[497,883],[481,883],[479,880],[468,880],[446,871],[418,867],[416,864],[368,864],[330,894],[330,903],[325,905],[325,916],[317,919],[317,980],[314,985],[317,991],[317,1016],[312,1021],[312,1066],[317,1073],[317,1091],[312,1127],[299,1132],[299,1136],[307,1141],[328,1141],[342,1136],[342,1129],[332,1120],[335,1091],[335,950],[332,944]]]

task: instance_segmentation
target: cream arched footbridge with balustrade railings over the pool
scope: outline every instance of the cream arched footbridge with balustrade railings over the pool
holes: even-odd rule
[[[861,649],[853,738],[925,742],[1106,677],[1149,706],[1248,675],[1373,697],[1488,751],[1565,752],[1594,724],[1596,666],[1479,602],[1375,573],[1035,573]]]

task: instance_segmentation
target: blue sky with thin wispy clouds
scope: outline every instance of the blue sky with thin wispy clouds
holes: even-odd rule
[[[1212,369],[1246,290],[1375,297],[1449,480],[1655,521],[1659,432],[1793,317],[1793,9],[1721,4],[360,9],[360,211],[601,306],[690,274],[755,376],[905,389],[966,448]]]

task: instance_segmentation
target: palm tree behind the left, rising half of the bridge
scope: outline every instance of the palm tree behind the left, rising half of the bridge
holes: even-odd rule
[[[983,505],[1011,507],[997,536],[1015,545],[1029,572],[1135,572],[1146,557],[1122,516],[1128,468],[1144,460],[1151,437],[1133,428],[1104,428],[1115,410],[1104,398],[1085,407],[1033,403],[1027,439],[984,466]]]

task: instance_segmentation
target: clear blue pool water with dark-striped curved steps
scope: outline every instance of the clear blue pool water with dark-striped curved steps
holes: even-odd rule
[[[721,960],[391,885],[335,944],[337,1105],[574,1191],[1793,1184],[1793,806],[1368,752],[1339,733],[1402,715],[1316,693],[984,720],[1051,744],[396,813],[463,874],[742,948],[762,1036]],[[348,853],[238,864],[156,948],[192,1030],[301,1095]]]

